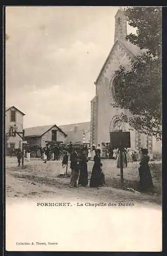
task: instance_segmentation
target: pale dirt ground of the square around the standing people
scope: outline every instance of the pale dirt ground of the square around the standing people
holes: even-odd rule
[[[88,178],[90,179],[93,162],[88,163]],[[114,160],[103,160],[105,170],[106,186],[100,188],[78,187],[70,188],[69,179],[59,178],[61,161],[50,161],[44,164],[40,159],[25,161],[24,168],[17,167],[17,159],[6,159],[6,201],[7,203],[20,201],[21,199],[30,200],[90,200],[93,202],[134,202],[140,205],[160,205],[160,195],[145,195],[132,193],[131,191],[119,188],[120,174],[115,167]],[[69,170],[69,166],[68,166]],[[133,186],[136,183],[137,163],[132,163],[124,169],[125,183]],[[157,181],[154,179],[157,185]]]

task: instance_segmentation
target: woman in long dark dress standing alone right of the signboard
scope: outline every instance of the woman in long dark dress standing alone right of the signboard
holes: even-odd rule
[[[139,163],[140,167],[138,168],[141,191],[154,193],[154,185],[151,177],[149,160],[150,157],[148,156],[147,148],[142,149],[142,157]]]

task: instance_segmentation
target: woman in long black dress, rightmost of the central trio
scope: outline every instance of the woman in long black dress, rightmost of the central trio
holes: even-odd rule
[[[100,150],[96,150],[96,155],[93,158],[94,165],[91,172],[90,187],[103,186],[103,174],[101,171]]]

